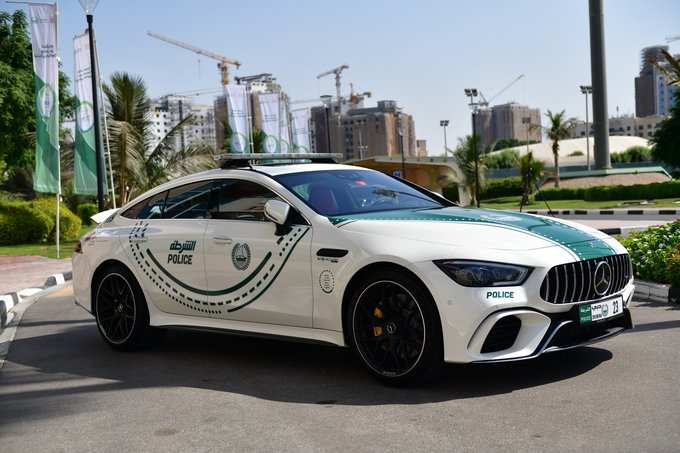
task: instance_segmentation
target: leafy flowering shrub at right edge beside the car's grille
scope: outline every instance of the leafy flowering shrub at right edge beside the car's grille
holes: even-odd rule
[[[680,286],[680,220],[632,233],[621,244],[637,278]]]

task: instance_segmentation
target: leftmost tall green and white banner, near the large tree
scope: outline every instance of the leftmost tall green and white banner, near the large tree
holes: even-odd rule
[[[57,5],[30,4],[36,140],[33,189],[59,193],[59,65]]]

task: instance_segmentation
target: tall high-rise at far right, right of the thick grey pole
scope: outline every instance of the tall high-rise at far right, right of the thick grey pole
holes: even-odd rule
[[[665,65],[661,51],[668,46],[651,46],[642,49],[640,75],[635,78],[635,116],[668,115],[673,105],[676,87],[668,85],[668,78],[657,64]],[[680,55],[675,55],[676,58]]]

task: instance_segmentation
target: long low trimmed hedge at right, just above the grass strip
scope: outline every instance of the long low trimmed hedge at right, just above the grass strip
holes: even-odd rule
[[[632,186],[595,186],[588,188],[544,189],[536,196],[541,200],[653,200],[680,197],[680,181],[635,184]]]

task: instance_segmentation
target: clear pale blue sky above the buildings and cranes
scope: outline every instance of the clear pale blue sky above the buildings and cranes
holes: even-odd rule
[[[4,10],[17,5],[2,2]],[[60,53],[72,78],[72,38],[86,26],[77,0],[59,0]],[[680,35],[680,0],[604,0],[610,116],[634,114],[640,50]],[[243,63],[235,75],[271,72],[292,100],[335,92],[340,64],[367,105],[396,100],[414,116],[430,154],[470,133],[464,88],[494,99],[566,110],[583,118],[579,85],[590,83],[587,0],[101,0],[94,12],[102,75],[140,75],[151,96],[219,89],[212,60],[146,35],[147,30]],[[680,52],[680,41],[670,44]],[[210,98],[197,98],[211,102]]]

